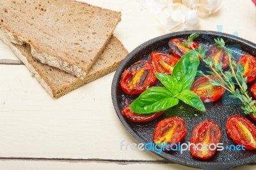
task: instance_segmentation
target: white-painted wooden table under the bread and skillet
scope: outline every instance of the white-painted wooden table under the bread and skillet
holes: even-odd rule
[[[163,35],[154,15],[136,0],[84,0],[122,12],[115,35],[129,52]],[[200,19],[202,30],[234,33],[256,43],[256,9],[250,0],[224,0],[220,12]],[[0,59],[17,60],[0,42]],[[4,63],[6,61],[0,60]],[[111,100],[114,73],[52,99],[24,65],[0,65],[0,169],[193,169],[148,151],[120,150],[138,143]],[[256,169],[256,164],[234,169]]]

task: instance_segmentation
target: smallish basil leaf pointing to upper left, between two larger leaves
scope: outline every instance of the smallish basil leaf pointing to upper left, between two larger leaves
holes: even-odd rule
[[[177,95],[182,89],[182,84],[165,73],[155,73],[157,79],[166,87],[172,95]]]

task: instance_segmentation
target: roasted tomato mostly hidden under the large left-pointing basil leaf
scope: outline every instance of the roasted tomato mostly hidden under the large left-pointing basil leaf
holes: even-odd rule
[[[147,121],[152,121],[154,119],[156,119],[158,116],[160,116],[161,114],[163,114],[164,111],[161,112],[156,112],[156,113],[152,113],[152,114],[137,114],[135,112],[132,112],[129,109],[128,105],[127,107],[125,107],[122,111],[122,114],[124,115],[125,118],[127,118],[127,120],[133,121],[133,122],[147,122]]]

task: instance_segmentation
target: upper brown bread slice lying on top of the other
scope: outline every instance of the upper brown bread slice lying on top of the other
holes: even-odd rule
[[[121,13],[73,0],[0,1],[0,29],[8,41],[31,46],[44,64],[84,77]]]

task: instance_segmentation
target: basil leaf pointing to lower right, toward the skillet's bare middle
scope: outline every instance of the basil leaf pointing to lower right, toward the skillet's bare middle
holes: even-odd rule
[[[184,91],[182,91],[178,95],[177,98],[182,100],[182,102],[184,102],[185,104],[195,107],[199,111],[202,111],[202,112],[206,111],[204,104],[203,104],[202,100],[200,99],[200,97],[198,97],[198,95],[196,95],[196,93],[194,93],[193,91],[191,91],[189,89],[185,89]]]

